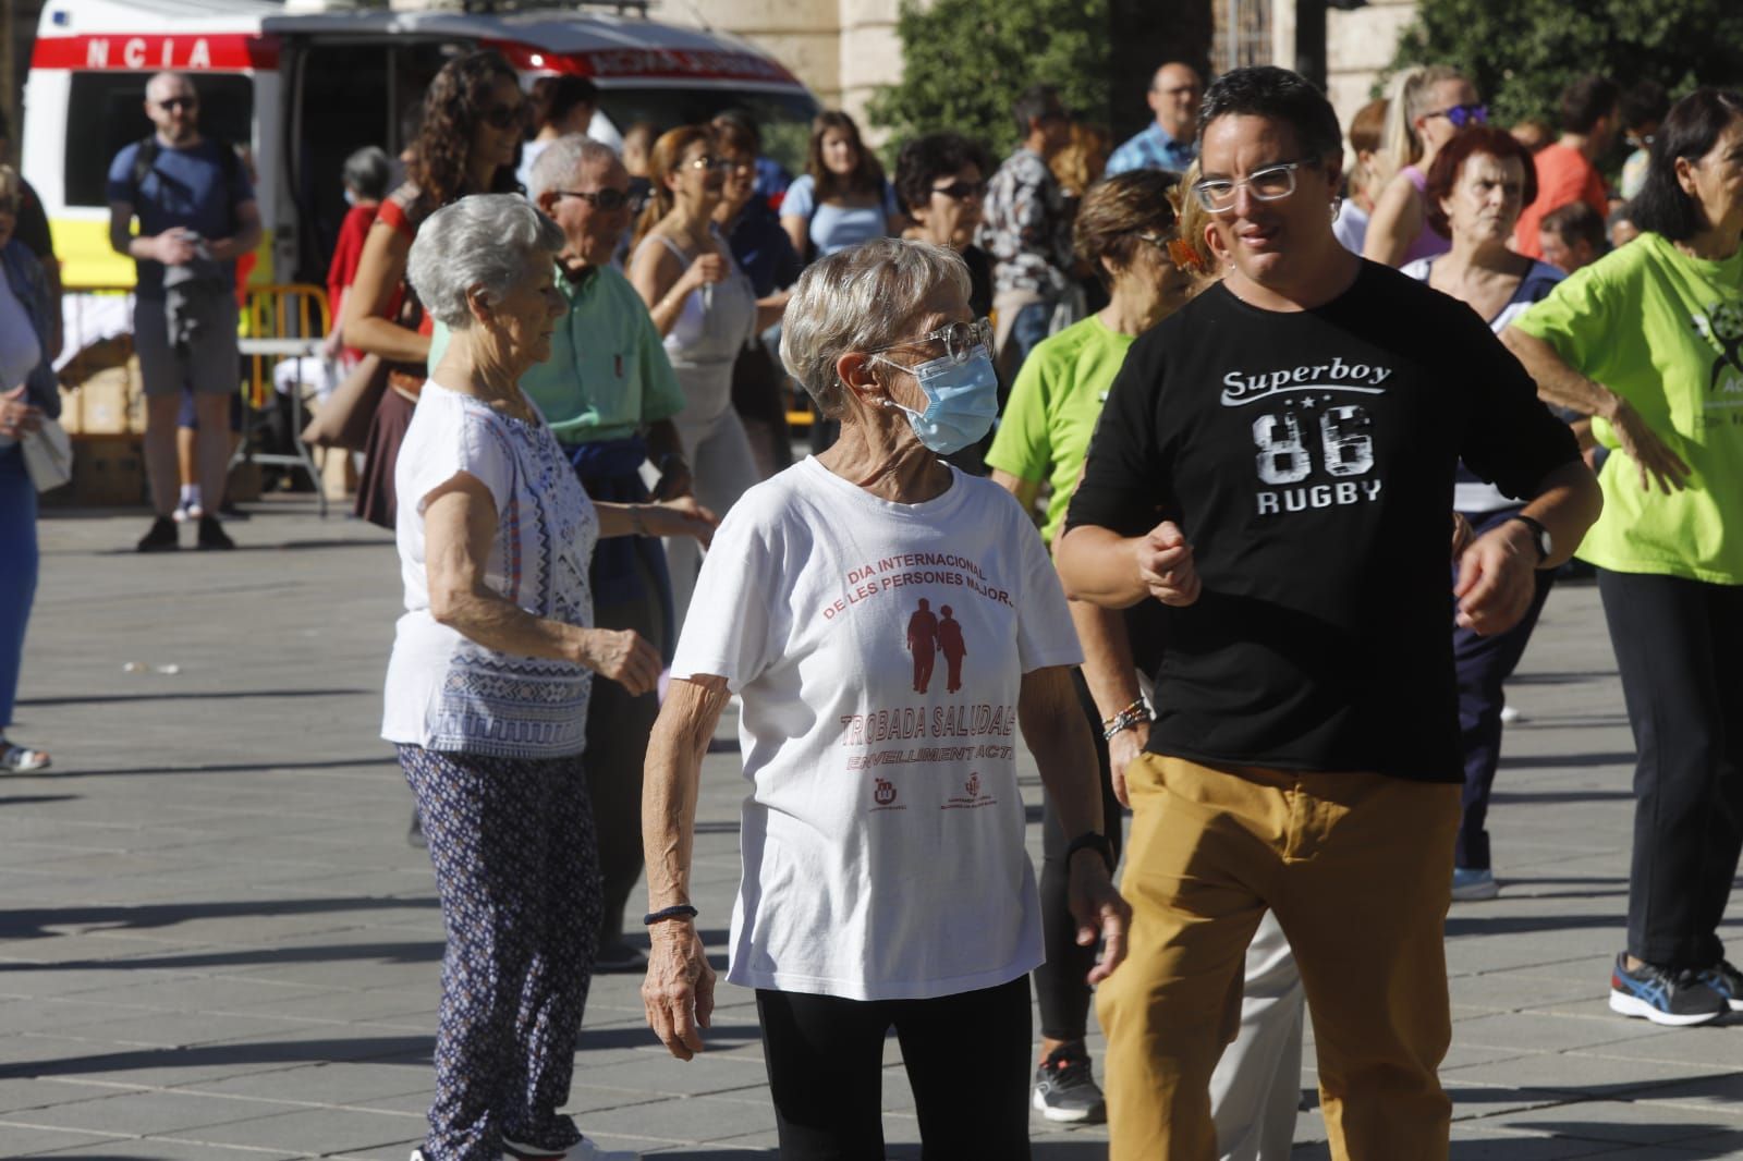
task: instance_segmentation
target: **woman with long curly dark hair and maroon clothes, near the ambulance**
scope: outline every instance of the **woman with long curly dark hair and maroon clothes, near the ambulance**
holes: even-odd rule
[[[357,516],[396,526],[394,465],[424,387],[431,321],[406,286],[406,256],[418,227],[467,194],[518,190],[514,157],[526,124],[519,77],[497,52],[471,52],[443,64],[424,94],[417,160],[408,180],[382,202],[363,242],[357,275],[345,295],[342,342],[387,363],[387,390],[370,424]]]

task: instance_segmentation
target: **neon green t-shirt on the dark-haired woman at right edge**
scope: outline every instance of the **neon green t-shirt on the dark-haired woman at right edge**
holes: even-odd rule
[[[1687,488],[1640,488],[1612,455],[1604,516],[1579,558],[1616,572],[1743,584],[1743,251],[1689,258],[1658,234],[1569,275],[1513,322],[1624,397],[1692,469]],[[1593,436],[1616,446],[1595,420]]]

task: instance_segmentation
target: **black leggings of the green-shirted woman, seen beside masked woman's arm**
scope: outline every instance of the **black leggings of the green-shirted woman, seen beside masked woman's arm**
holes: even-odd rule
[[[1072,669],[1072,683],[1077,687],[1077,701],[1089,718],[1089,734],[1095,737],[1096,769],[1102,774],[1102,833],[1114,847],[1114,861],[1119,861],[1121,826],[1119,798],[1114,797],[1114,771],[1107,758],[1107,743],[1102,741],[1102,715],[1096,713],[1095,699],[1089,697],[1089,685],[1081,669]],[[1067,835],[1060,826],[1060,816],[1049,798],[1042,798],[1041,809],[1041,931],[1048,950],[1048,962],[1035,968],[1035,999],[1041,1004],[1041,1034],[1049,1041],[1081,1041],[1089,1027],[1089,983],[1086,976],[1095,968],[1095,945],[1077,945],[1077,920],[1072,919],[1070,906],[1070,868],[1065,865],[1065,847],[1077,835]]]

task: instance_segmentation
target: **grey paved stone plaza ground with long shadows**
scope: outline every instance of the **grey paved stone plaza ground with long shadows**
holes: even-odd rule
[[[0,1156],[404,1161],[422,1137],[443,933],[376,737],[394,551],[300,500],[253,511],[216,556],[136,556],[138,513],[42,523],[12,732],[56,769],[0,786]],[[1509,699],[1525,720],[1492,821],[1504,894],[1447,924],[1452,1156],[1743,1156],[1743,1027],[1605,1008],[1631,744],[1593,587],[1555,593]],[[709,757],[695,903],[722,955],[739,797],[737,755]],[[751,995],[722,987],[709,1051],[678,1063],[638,985],[594,981],[570,1100],[584,1131],[772,1156]],[[919,1158],[894,1041],[884,1103],[889,1156]],[[1100,1130],[1034,1128],[1041,1161],[1105,1156]],[[1318,1110],[1297,1140],[1328,1156]]]

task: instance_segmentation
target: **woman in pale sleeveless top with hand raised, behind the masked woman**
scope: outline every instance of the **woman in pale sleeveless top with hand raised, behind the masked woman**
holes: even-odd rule
[[[685,404],[673,424],[690,462],[695,499],[725,514],[756,483],[756,458],[732,410],[732,366],[756,331],[781,317],[781,309],[772,303],[758,309],[751,281],[713,220],[725,190],[713,129],[682,126],[661,134],[650,176],[629,282],[666,336],[666,356],[683,389]],[[666,542],[680,624],[695,587],[699,554],[694,540]]]

